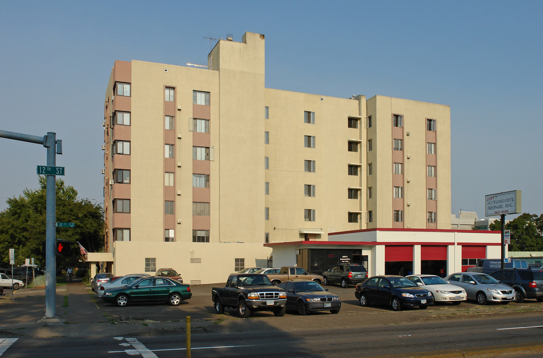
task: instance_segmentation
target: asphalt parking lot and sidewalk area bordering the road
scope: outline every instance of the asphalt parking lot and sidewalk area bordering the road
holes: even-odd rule
[[[354,288],[328,286],[330,292],[342,300],[339,314],[319,312],[298,316],[288,312],[283,317],[273,313],[257,312],[251,318],[239,318],[236,310],[226,309],[223,315],[214,313],[211,300],[213,285],[191,286],[192,298],[177,307],[165,303],[129,304],[127,307],[103,302],[90,287],[80,282],[56,287],[55,320],[43,320],[45,315],[45,289],[5,290],[0,298],[0,333],[13,336],[78,337],[182,334],[186,317],[191,317],[193,333],[223,333],[256,331],[263,329],[291,330],[307,327],[369,327],[375,324],[402,324],[433,320],[469,320],[481,315],[519,315],[541,313],[543,304],[526,301],[522,304],[435,305],[426,310],[406,309],[394,312],[387,307],[361,307]]]

